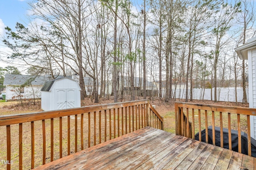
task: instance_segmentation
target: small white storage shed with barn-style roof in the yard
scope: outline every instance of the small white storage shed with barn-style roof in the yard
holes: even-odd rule
[[[68,77],[45,82],[41,89],[41,108],[44,111],[81,107],[80,86]]]

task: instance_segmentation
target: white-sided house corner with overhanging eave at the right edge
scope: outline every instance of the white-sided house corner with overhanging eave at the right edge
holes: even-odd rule
[[[256,108],[256,37],[236,47],[236,53],[242,60],[248,60],[249,107]],[[256,139],[256,116],[250,116],[251,137]]]

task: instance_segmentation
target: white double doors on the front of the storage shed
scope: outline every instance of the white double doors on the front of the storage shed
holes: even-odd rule
[[[57,109],[75,107],[75,89],[59,89],[56,91]]]

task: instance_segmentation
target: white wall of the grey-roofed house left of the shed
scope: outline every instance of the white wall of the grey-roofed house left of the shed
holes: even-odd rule
[[[19,86],[6,86],[6,101],[8,100],[19,100]],[[22,93],[22,99],[33,99],[41,98],[42,86],[25,86],[24,93]]]

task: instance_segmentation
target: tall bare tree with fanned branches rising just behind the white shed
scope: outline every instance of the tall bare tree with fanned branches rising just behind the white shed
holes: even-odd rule
[[[70,43],[75,54],[73,61],[78,70],[81,100],[86,96],[82,65],[82,30],[86,27],[86,17],[90,15],[86,13],[86,7],[89,5],[85,0],[38,0],[36,3],[30,3],[33,15],[57,29]]]

